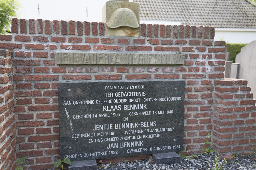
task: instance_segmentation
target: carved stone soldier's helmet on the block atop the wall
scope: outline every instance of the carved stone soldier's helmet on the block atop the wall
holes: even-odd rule
[[[136,15],[129,8],[119,8],[114,11],[110,20],[106,25],[109,28],[118,28],[121,26],[127,26],[131,28],[140,27]]]

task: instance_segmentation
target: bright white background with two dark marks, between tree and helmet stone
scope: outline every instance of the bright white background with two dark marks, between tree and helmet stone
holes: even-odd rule
[[[107,1],[20,0],[23,9],[18,18],[102,22],[102,7]]]

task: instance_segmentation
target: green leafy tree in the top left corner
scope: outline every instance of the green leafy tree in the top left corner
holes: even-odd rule
[[[11,20],[17,17],[17,10],[20,7],[19,0],[0,0],[0,34],[11,33]]]

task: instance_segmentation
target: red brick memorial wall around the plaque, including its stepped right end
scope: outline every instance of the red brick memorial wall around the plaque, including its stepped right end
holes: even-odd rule
[[[214,137],[211,147],[218,153],[252,151],[255,101],[244,91],[245,84],[223,81],[225,42],[213,40],[214,27],[141,24],[140,28],[140,37],[108,37],[105,23],[12,20],[12,36],[2,35],[0,48],[13,52],[16,157],[28,156],[27,169],[50,169],[59,158],[58,82],[184,80],[184,149],[201,153],[209,133]],[[185,64],[58,65],[55,52],[59,51],[181,53]],[[244,98],[222,88],[240,89]],[[226,94],[232,98],[219,97]],[[233,128],[237,130],[229,132]],[[233,146],[230,150],[225,150],[227,143]]]

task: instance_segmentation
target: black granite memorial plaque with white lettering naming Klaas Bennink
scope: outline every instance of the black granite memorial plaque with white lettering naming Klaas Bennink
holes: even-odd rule
[[[183,151],[184,81],[59,83],[60,157]]]

